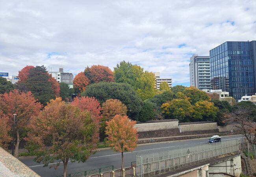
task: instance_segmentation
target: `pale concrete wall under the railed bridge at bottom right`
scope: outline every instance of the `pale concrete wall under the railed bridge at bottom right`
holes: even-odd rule
[[[209,166],[209,177],[228,177],[228,175],[224,174],[216,174],[216,173],[228,173],[234,176],[240,176],[242,172],[241,167],[241,156],[233,157],[224,162],[219,162]],[[215,173],[215,174],[212,174]]]

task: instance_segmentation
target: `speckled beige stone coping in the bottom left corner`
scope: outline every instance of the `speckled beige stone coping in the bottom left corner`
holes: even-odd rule
[[[40,177],[33,170],[28,168],[20,160],[13,157],[2,147],[0,147],[0,174],[2,176],[18,177],[18,176],[33,176]]]

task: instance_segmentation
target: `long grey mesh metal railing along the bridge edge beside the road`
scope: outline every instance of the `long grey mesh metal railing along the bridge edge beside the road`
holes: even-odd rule
[[[177,147],[168,151],[147,153],[136,156],[136,175],[149,173],[164,168],[178,169],[189,164],[208,160],[219,155],[239,151],[245,143],[245,138],[224,140],[212,144]]]

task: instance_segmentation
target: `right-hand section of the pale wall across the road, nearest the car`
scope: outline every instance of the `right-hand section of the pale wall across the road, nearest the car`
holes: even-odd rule
[[[186,131],[198,131],[198,130],[214,130],[218,129],[216,122],[204,122],[204,123],[183,123],[179,124],[180,132],[186,132]]]

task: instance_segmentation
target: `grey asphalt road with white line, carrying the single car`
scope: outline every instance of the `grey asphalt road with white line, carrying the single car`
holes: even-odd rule
[[[241,135],[233,135],[233,136],[224,136],[222,140],[231,139],[231,138],[240,138]],[[124,166],[131,166],[131,162],[136,160],[136,155],[144,154],[144,153],[153,153],[158,151],[164,151],[168,149],[176,149],[177,146],[184,147],[189,146],[189,144],[200,144],[207,143],[208,138],[200,138],[193,140],[181,140],[174,142],[161,142],[161,143],[152,143],[152,144],[143,144],[139,145],[133,152],[124,153]],[[33,161],[33,157],[22,157],[21,160],[24,164],[29,166],[36,173],[41,175],[42,177],[54,177],[61,175],[63,173],[63,164],[55,170],[54,168],[43,167],[42,164],[38,164]],[[67,174],[76,173],[79,171],[85,170],[93,170],[96,168],[102,168],[106,166],[114,166],[114,169],[121,168],[121,154],[117,152],[113,152],[112,149],[101,149],[98,150],[96,154],[92,155],[90,159],[88,159],[85,163],[74,162],[68,163],[67,166]]]

